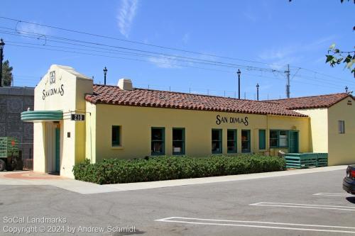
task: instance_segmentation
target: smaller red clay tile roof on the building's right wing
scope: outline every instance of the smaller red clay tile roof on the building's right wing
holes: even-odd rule
[[[335,103],[342,101],[346,97],[351,96],[347,93],[326,94],[319,96],[303,96],[293,99],[268,100],[266,102],[278,103],[286,109],[307,109],[307,108],[329,108]],[[352,96],[351,96],[352,97]]]

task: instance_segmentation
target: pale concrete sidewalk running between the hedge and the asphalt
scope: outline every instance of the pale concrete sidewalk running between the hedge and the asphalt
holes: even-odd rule
[[[265,179],[278,176],[290,176],[295,174],[310,174],[317,172],[331,172],[339,169],[346,169],[344,166],[334,166],[334,167],[318,167],[313,169],[294,169],[283,172],[266,172],[266,173],[256,173],[256,174],[240,174],[240,175],[230,175],[230,176],[216,176],[207,178],[196,178],[196,179],[174,179],[165,181],[153,181],[153,182],[140,182],[140,183],[129,183],[129,184],[92,184],[89,182],[78,181],[75,179],[67,179],[58,176],[58,178],[42,178],[42,179],[14,179],[6,177],[9,172],[0,172],[0,185],[50,185],[61,189],[66,189],[68,191],[73,191],[81,194],[91,194],[91,193],[109,193],[114,191],[131,191],[139,189],[155,189],[173,186],[184,186],[192,184],[209,184],[217,182],[226,181],[241,181],[248,179]]]

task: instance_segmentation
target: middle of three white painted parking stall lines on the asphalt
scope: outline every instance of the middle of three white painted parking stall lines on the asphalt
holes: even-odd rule
[[[250,206],[275,206],[284,208],[315,208],[315,209],[327,209],[327,210],[354,210],[353,206],[329,206],[329,205],[312,205],[312,204],[297,204],[297,203],[253,203]]]

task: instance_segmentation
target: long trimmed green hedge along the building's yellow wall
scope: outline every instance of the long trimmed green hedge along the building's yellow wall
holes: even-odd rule
[[[96,164],[90,164],[86,159],[73,168],[75,179],[97,184],[188,179],[280,170],[285,170],[283,158],[255,154],[205,158],[184,156],[131,160],[104,159]]]

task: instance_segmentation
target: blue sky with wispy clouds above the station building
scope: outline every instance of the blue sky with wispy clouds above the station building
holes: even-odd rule
[[[241,97],[255,99],[258,83],[261,99],[275,99],[285,97],[286,64],[291,67],[291,96],[341,92],[345,86],[355,90],[355,79],[343,65],[331,68],[324,63],[332,43],[344,50],[354,47],[354,9],[351,1],[338,0],[3,0],[2,17],[121,40],[4,18],[0,37],[6,43],[5,59],[14,68],[15,86],[35,86],[50,64],[64,64],[94,77],[96,83],[103,83],[106,66],[107,84],[128,77],[136,87],[235,96],[235,72],[241,69]],[[220,62],[228,66],[217,66]]]

